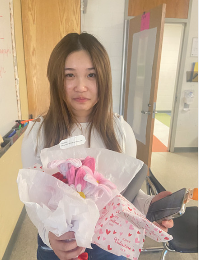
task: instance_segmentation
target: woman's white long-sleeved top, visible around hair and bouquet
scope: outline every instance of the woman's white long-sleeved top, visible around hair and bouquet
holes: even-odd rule
[[[43,130],[40,132],[38,152],[37,154],[35,153],[38,130],[42,121],[43,121],[42,117],[40,117],[40,122],[30,121],[28,128],[25,132],[25,136],[22,143],[22,163],[24,168],[33,166],[35,163],[42,164],[40,160],[40,151],[44,148]],[[121,147],[123,148],[123,153],[135,158],[137,147],[136,147],[135,135],[133,133],[131,126],[123,119],[122,116],[119,116],[117,114],[114,114],[114,122],[115,122],[114,126],[115,126],[116,136],[119,143],[121,144]],[[72,131],[72,136],[81,135],[81,134],[85,136],[86,142],[82,145],[84,147],[88,147],[88,142],[87,142],[88,124],[89,123],[80,124],[82,131],[81,128],[77,126],[75,126]],[[95,130],[93,130],[91,133],[90,147],[106,148],[102,138],[99,136],[99,134],[97,134]],[[146,215],[152,198],[153,196],[149,196],[145,194],[142,190],[140,190],[134,200],[134,206],[139,211],[141,211],[144,215]],[[29,208],[26,207],[26,210],[28,212]],[[44,228],[42,223],[38,228],[38,233],[41,236],[43,242],[49,247],[51,247],[49,242],[49,237],[48,237],[49,231]]]

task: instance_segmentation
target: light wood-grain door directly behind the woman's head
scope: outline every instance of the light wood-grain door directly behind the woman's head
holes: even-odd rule
[[[66,34],[80,33],[80,0],[21,0],[29,115],[49,107],[47,64]]]

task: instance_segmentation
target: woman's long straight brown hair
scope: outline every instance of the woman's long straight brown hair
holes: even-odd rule
[[[64,64],[66,57],[78,50],[86,50],[91,57],[96,72],[98,101],[90,115],[89,146],[91,130],[95,128],[101,135],[107,149],[121,152],[117,141],[112,100],[112,76],[109,56],[104,46],[91,34],[67,34],[53,49],[47,68],[50,83],[50,107],[44,118],[45,147],[58,144],[68,138],[74,124],[78,125],[67,102],[64,87]],[[41,125],[41,126],[42,126]]]

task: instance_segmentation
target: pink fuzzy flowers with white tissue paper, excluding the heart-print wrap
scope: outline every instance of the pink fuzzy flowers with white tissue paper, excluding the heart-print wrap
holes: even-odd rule
[[[60,149],[59,145],[43,149],[41,161],[42,165],[20,169],[18,174],[19,196],[29,218],[38,229],[42,223],[57,236],[74,231],[78,246],[88,248],[99,211],[143,165],[107,149]]]

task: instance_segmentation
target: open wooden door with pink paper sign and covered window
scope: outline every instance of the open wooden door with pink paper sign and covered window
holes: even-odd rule
[[[149,167],[165,10],[163,4],[129,21],[124,117],[136,135],[137,158]]]

